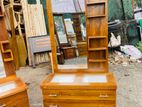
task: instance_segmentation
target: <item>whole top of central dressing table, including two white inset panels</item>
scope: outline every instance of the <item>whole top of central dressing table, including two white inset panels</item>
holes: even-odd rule
[[[55,73],[41,84],[42,89],[116,89],[112,73]]]

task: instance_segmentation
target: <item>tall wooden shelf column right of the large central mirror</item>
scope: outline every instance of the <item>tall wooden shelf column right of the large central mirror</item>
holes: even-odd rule
[[[86,0],[88,68],[108,72],[108,10],[106,0]]]

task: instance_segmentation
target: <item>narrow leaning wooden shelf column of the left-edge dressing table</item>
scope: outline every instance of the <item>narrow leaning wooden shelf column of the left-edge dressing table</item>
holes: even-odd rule
[[[15,65],[13,63],[13,54],[8,40],[8,32],[6,30],[4,13],[0,3],[0,50],[2,53],[3,63],[7,76],[15,75]]]

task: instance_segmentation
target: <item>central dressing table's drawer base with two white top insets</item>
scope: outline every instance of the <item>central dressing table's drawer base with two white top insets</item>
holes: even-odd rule
[[[116,107],[116,83],[108,74],[51,74],[41,84],[45,107]]]

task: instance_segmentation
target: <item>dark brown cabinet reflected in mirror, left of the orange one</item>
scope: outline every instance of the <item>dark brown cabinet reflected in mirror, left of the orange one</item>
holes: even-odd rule
[[[76,57],[76,48],[75,47],[62,47],[62,51],[65,59],[75,58]]]

